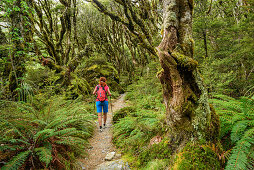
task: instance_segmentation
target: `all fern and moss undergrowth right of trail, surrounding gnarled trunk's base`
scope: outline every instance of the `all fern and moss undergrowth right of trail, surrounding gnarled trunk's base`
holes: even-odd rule
[[[254,100],[245,97],[237,100],[224,95],[214,96],[210,100],[220,116],[220,142],[204,146],[186,146],[178,155],[180,162],[178,159],[172,163],[161,86],[159,80],[151,75],[155,73],[143,76],[128,87],[125,98],[128,107],[116,112],[113,118],[113,142],[125,153],[125,159],[129,160],[133,168],[253,167]],[[161,139],[157,143],[152,141],[155,136]],[[199,152],[203,153],[203,157],[198,156]]]

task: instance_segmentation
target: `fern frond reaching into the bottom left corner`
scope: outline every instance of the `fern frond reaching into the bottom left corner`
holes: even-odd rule
[[[30,153],[31,153],[30,150],[19,153],[10,162],[8,162],[4,167],[2,167],[2,169],[3,170],[7,170],[7,169],[8,170],[16,170],[16,169],[19,169],[19,167],[22,166],[23,163],[26,161],[26,159],[28,158]]]

